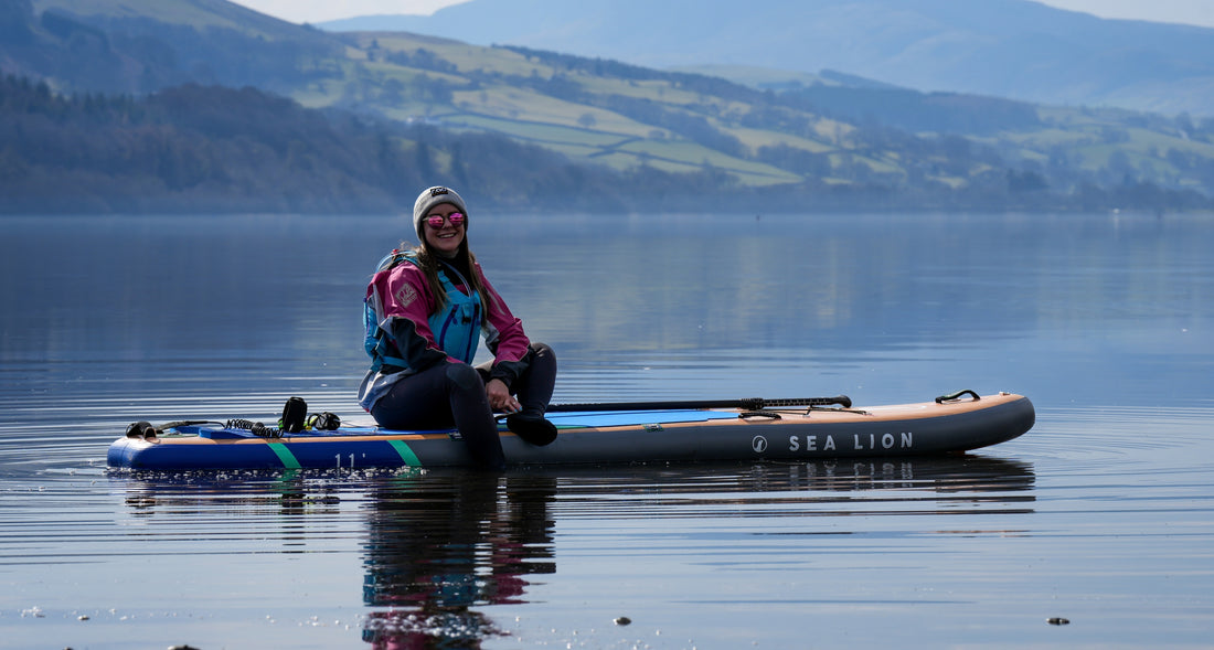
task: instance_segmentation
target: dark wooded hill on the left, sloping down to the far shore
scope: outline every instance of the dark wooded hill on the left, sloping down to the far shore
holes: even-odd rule
[[[369,125],[250,87],[64,97],[0,78],[0,214],[393,213],[431,183],[480,205],[624,210],[622,183],[693,194],[707,180],[586,169],[486,134]]]

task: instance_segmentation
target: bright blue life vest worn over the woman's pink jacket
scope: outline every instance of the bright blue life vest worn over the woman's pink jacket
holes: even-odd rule
[[[376,273],[391,269],[402,261],[418,266],[416,255],[412,251],[392,251],[380,260]],[[484,315],[481,310],[481,294],[477,292],[465,294],[459,290],[452,283],[450,278],[447,277],[448,273],[459,276],[464,281],[464,287],[471,288],[472,284],[450,266],[444,266],[446,269],[438,273],[438,283],[447,295],[447,305],[443,310],[430,315],[430,330],[433,333],[438,347],[447,352],[448,356],[465,363],[472,363],[472,358],[476,356],[476,347],[481,341],[481,326],[484,321]],[[375,310],[365,303],[363,305],[363,320],[367,326],[367,338],[363,341],[363,347],[371,357],[371,371],[379,372],[385,364],[409,369],[408,362],[397,356],[397,346],[391,334],[380,328]]]

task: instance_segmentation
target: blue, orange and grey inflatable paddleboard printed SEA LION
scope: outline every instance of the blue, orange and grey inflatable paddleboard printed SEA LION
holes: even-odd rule
[[[550,445],[529,445],[505,424],[500,435],[510,465],[800,460],[959,453],[1017,437],[1036,422],[1032,402],[1021,395],[964,394],[872,407],[558,411],[548,416],[558,430]],[[437,468],[470,465],[471,458],[455,430],[342,426],[267,434],[229,422],[125,435],[109,446],[108,464],[147,470]]]

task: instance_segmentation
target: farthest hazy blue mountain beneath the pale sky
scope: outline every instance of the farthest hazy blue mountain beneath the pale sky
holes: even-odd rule
[[[677,27],[673,27],[677,26]],[[1214,115],[1214,29],[1108,21],[1029,0],[471,0],[399,30],[652,67],[835,69],[920,91]]]

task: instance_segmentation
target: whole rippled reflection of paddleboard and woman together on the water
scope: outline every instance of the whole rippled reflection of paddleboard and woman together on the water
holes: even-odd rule
[[[562,599],[561,589],[578,589],[556,578],[562,553],[577,575],[585,569],[577,565],[601,550],[595,547],[603,538],[577,532],[588,522],[663,531],[635,538],[620,554],[599,556],[595,561],[608,572],[660,563],[671,535],[691,554],[731,536],[767,539],[773,546],[762,547],[764,561],[783,561],[792,560],[789,553],[801,558],[815,548],[840,549],[822,548],[823,535],[843,536],[850,553],[866,553],[874,535],[964,536],[975,526],[1023,531],[1037,490],[1031,463],[985,456],[531,468],[504,475],[460,469],[124,473],[110,485],[141,522],[140,548],[188,538],[192,552],[233,559],[256,549],[260,559],[243,569],[251,571],[279,566],[273,554],[311,554],[307,561],[317,572],[308,589],[327,590],[325,598],[339,603],[358,598],[361,583],[356,629],[384,649],[477,648],[488,639],[527,635],[512,616],[518,606],[540,607],[529,620],[560,617],[563,605],[557,611],[551,605]],[[938,515],[997,519],[942,529]],[[567,530],[563,552],[555,544],[561,526]],[[333,550],[353,555],[348,566],[361,569],[361,581],[316,566]],[[603,587],[586,584],[596,592]],[[314,603],[299,605],[307,611]]]

